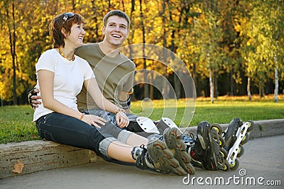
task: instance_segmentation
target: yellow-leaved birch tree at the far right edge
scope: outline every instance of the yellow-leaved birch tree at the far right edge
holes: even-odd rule
[[[283,64],[278,64],[278,58],[283,59],[283,38],[280,37],[280,32],[283,32],[283,8],[280,8],[283,1],[253,1],[252,5],[249,19],[241,27],[246,39],[242,56],[246,60],[250,81],[255,81],[258,86],[259,96],[264,96],[268,79],[274,79],[275,101],[278,101],[278,70],[283,73]]]

